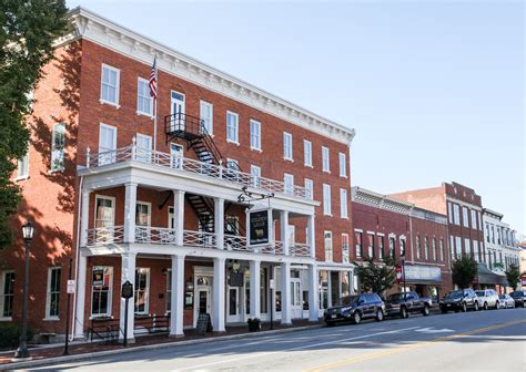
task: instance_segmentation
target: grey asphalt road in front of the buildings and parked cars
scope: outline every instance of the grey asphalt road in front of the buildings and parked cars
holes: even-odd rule
[[[113,355],[39,371],[526,371],[526,309],[432,314]]]

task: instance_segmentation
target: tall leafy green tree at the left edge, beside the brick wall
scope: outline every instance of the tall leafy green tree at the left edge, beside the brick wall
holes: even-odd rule
[[[30,94],[53,56],[53,42],[68,31],[68,9],[63,0],[2,0],[0,23],[0,248],[6,248],[12,244],[9,218],[21,200],[10,178],[28,149]]]

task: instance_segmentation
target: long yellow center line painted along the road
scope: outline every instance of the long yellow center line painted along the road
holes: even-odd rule
[[[419,342],[415,342],[411,345],[393,347],[393,348],[390,348],[390,349],[386,349],[386,350],[376,351],[376,352],[372,352],[372,353],[368,353],[368,354],[363,354],[363,355],[348,358],[348,359],[342,360],[340,362],[322,364],[322,365],[316,366],[314,369],[305,370],[305,372],[328,371],[328,370],[336,369],[336,368],[340,368],[340,366],[350,365],[350,364],[354,364],[354,363],[360,363],[360,362],[363,362],[363,361],[366,361],[366,360],[371,360],[371,359],[375,359],[375,358],[380,358],[380,356],[384,356],[384,355],[391,355],[391,354],[403,352],[403,351],[409,351],[409,350],[427,347],[427,345],[431,345],[431,344],[445,342],[445,341],[449,341],[449,340],[454,340],[454,339],[458,339],[458,338],[463,338],[463,337],[469,337],[472,334],[483,333],[483,332],[492,331],[492,330],[495,330],[495,329],[512,327],[512,326],[519,324],[519,323],[525,323],[525,322],[526,322],[526,320],[520,319],[520,320],[516,320],[516,321],[512,321],[512,322],[507,322],[507,323],[500,323],[500,324],[478,328],[478,329],[475,329],[475,330],[468,331],[468,332],[446,335],[446,337],[437,338],[437,339],[429,340],[429,341],[419,341]]]

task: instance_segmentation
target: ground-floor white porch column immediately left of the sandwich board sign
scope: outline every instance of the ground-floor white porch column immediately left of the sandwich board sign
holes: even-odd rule
[[[172,256],[170,337],[183,337],[184,256]]]

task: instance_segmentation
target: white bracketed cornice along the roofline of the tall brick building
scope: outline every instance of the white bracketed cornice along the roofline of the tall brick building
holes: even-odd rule
[[[72,34],[63,38],[64,41],[85,39],[146,65],[151,65],[153,56],[156,55],[158,69],[163,72],[229,96],[333,141],[350,145],[354,138],[354,128],[316,115],[170,46],[119,25],[85,8],[74,8],[70,12],[70,18],[73,30]]]

